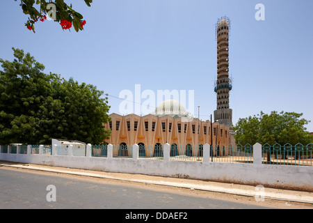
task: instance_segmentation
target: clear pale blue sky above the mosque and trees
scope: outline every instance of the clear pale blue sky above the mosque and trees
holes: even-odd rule
[[[194,90],[195,116],[200,106],[207,120],[216,109],[215,24],[227,15],[233,123],[261,111],[298,112],[313,121],[313,1],[94,0],[90,8],[83,0],[67,2],[84,16],[84,31],[45,21],[33,33],[19,1],[2,0],[0,58],[12,61],[11,48],[24,49],[45,72],[117,97],[135,84],[156,95]],[[255,20],[257,3],[265,6],[264,21]],[[119,113],[121,102],[109,97],[110,113]],[[313,132],[313,123],[307,129]]]

